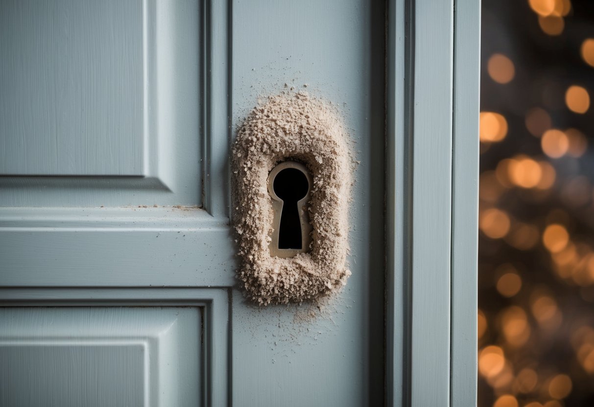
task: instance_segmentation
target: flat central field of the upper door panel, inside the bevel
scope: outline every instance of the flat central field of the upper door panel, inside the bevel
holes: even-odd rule
[[[143,174],[141,2],[0,2],[0,173]]]

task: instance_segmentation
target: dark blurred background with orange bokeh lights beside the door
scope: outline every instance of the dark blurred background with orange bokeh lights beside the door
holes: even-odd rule
[[[594,406],[594,1],[483,0],[479,407]]]

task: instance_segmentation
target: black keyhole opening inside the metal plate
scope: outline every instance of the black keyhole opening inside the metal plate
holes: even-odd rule
[[[309,183],[296,168],[285,168],[274,177],[274,193],[283,200],[280,214],[279,249],[302,249],[301,219],[297,202],[307,195]]]

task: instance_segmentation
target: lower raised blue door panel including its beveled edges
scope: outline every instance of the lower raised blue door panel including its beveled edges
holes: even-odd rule
[[[196,307],[17,307],[0,320],[0,405],[200,403]]]

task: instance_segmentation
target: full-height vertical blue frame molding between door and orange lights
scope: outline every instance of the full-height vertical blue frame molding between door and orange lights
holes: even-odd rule
[[[476,405],[480,8],[388,1],[389,406]]]

